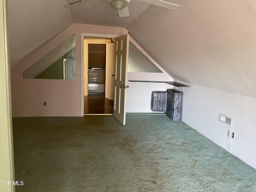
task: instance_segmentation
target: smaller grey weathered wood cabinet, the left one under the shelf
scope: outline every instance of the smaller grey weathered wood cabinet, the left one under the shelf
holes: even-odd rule
[[[152,111],[166,111],[167,91],[152,91],[150,109]]]

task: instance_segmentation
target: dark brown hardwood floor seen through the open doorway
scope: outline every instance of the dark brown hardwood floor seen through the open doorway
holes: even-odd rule
[[[113,101],[105,93],[89,93],[84,96],[84,114],[113,114]]]

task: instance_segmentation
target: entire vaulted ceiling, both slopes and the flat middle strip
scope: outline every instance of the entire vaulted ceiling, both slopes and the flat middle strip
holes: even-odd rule
[[[107,0],[70,9],[66,0],[8,0],[11,66],[73,22],[119,26],[175,80],[256,97],[256,2],[166,1],[180,8],[131,0],[130,16],[118,18]]]

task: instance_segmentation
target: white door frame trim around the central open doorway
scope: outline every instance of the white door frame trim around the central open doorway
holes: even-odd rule
[[[116,38],[120,35],[110,34],[96,34],[96,33],[81,33],[81,117],[84,116],[84,73],[88,68],[84,69],[84,37],[95,37],[95,38]],[[86,71],[84,71],[86,70]]]

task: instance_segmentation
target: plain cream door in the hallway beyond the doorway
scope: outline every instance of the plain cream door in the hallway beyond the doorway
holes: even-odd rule
[[[114,101],[115,43],[106,44],[105,97]]]

